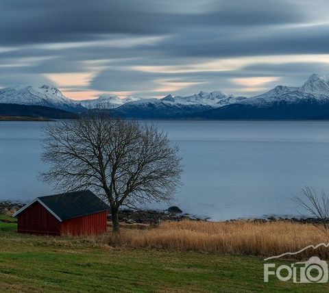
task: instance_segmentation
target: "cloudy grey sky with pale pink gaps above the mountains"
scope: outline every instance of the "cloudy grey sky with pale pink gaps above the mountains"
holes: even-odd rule
[[[252,97],[329,73],[327,0],[1,0],[0,87]]]

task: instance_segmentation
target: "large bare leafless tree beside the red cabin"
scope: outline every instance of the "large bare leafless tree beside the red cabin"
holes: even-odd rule
[[[154,125],[89,110],[80,119],[47,124],[42,142],[42,160],[50,167],[41,179],[59,190],[88,188],[106,199],[114,233],[121,205],[168,201],[181,184],[178,146]]]

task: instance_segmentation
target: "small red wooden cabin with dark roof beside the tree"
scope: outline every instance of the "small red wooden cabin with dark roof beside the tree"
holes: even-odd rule
[[[37,197],[13,216],[19,233],[97,235],[106,232],[108,209],[93,192],[84,190]]]

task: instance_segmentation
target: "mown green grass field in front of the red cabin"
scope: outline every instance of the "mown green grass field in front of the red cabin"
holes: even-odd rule
[[[324,292],[327,284],[263,283],[263,259],[125,249],[93,239],[19,235],[0,218],[0,292]],[[11,225],[8,225],[11,224]]]

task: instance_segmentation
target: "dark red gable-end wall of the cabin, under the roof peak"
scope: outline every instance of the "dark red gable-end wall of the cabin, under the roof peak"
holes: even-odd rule
[[[17,216],[19,233],[60,235],[60,221],[36,202]]]

